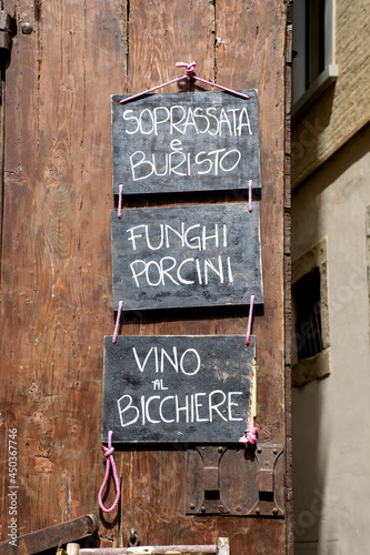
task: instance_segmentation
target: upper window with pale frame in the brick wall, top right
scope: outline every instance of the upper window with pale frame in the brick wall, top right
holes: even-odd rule
[[[334,0],[294,0],[292,117],[336,81]]]

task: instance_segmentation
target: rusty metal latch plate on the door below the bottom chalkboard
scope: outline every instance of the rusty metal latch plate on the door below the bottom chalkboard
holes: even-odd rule
[[[283,446],[197,446],[187,452],[190,515],[283,516]]]

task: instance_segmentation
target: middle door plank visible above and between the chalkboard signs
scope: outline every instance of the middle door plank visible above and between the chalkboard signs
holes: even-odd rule
[[[176,68],[178,61],[198,61],[197,73],[212,81],[214,79],[214,7],[208,0],[177,2],[173,0],[144,2],[137,0],[130,3],[129,13],[129,57],[128,57],[128,93],[137,93],[164,83],[184,74],[184,70]],[[204,87],[190,83],[189,80],[170,85],[160,92],[179,92],[202,90]],[[209,89],[209,88],[208,88]],[[126,205],[132,206],[132,202]],[[172,203],[187,202],[173,199]],[[169,203],[164,198],[162,205]],[[158,205],[158,199],[136,201],[134,205]],[[214,333],[214,320],[204,317],[203,313],[147,316],[137,313],[140,330],[143,334],[171,333]],[[121,325],[121,333],[127,327]]]

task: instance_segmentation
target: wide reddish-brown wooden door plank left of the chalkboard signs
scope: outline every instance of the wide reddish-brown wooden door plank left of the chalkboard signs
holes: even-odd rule
[[[19,32],[7,72],[1,398],[11,407],[3,432],[18,430],[24,534],[94,512],[104,468],[102,331],[113,326],[107,122],[111,88],[123,88],[126,12],[114,1],[16,8],[33,32]]]

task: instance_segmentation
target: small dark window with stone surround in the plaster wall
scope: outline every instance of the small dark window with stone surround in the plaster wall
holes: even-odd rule
[[[292,263],[292,385],[330,374],[327,240]]]

